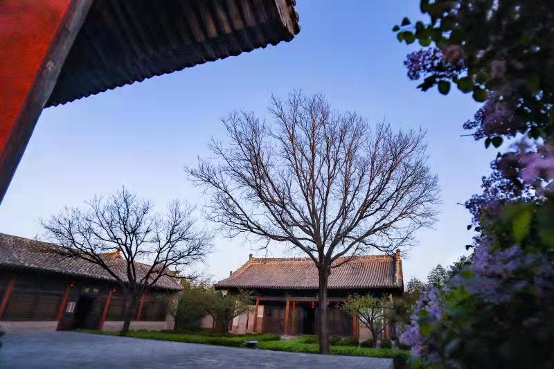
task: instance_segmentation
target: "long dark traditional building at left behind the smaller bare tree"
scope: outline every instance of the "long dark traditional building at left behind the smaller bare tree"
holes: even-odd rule
[[[0,233],[0,330],[120,330],[125,299],[115,278],[97,264],[53,253],[56,247]],[[124,276],[125,261],[107,258]],[[140,273],[149,266],[136,267]],[[179,278],[162,276],[141,296],[131,329],[172,329],[168,304],[181,290]]]

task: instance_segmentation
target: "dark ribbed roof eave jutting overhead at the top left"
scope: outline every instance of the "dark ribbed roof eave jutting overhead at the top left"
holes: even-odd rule
[[[46,106],[288,42],[292,0],[94,1]]]

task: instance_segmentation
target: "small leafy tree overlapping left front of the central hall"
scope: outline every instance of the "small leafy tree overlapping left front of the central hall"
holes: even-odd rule
[[[215,332],[224,333],[235,316],[250,311],[251,304],[252,296],[249,291],[228,294],[211,287],[206,295],[205,306],[206,312],[213,318]]]

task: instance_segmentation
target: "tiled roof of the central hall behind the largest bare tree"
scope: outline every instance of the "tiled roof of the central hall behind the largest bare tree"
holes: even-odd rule
[[[339,260],[341,261],[341,260]],[[309,258],[250,258],[216,288],[317,289],[319,278]],[[329,289],[402,289],[402,260],[395,255],[364,255],[331,270]]]

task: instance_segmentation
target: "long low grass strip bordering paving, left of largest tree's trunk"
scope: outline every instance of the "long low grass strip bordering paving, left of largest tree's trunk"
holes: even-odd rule
[[[105,334],[108,336],[118,336],[119,332],[99,332],[91,330],[80,330],[80,332],[93,333],[93,334]],[[127,337],[135,339],[157,339],[161,341],[175,341],[186,343],[203,343],[205,345],[219,345],[233,348],[240,348],[244,346],[244,342],[249,339],[256,339],[256,341],[278,341],[280,337],[277,334],[249,334],[249,335],[225,335],[222,336],[210,336],[205,334],[185,334],[185,333],[168,333],[168,332],[154,332],[147,330],[135,330],[129,331]]]

